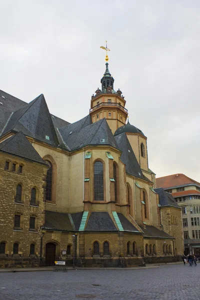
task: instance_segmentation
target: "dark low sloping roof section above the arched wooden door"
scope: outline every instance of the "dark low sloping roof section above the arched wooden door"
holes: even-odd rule
[[[50,229],[59,229],[73,231],[73,226],[70,222],[68,213],[45,210],[44,227]]]

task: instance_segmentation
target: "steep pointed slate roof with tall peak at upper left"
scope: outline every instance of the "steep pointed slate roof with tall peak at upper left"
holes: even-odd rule
[[[43,94],[12,113],[2,133],[11,129],[53,145],[59,143]]]

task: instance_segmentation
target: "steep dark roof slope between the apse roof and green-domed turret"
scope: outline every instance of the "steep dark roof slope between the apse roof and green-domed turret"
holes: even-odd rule
[[[146,180],[146,178],[142,174],[140,166],[137,162],[137,159],[134,155],[125,132],[116,135],[114,138],[116,140],[118,148],[122,151],[120,158],[123,163],[125,163],[126,173]]]

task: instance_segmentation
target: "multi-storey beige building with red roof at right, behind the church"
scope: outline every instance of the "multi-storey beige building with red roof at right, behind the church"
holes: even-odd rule
[[[181,208],[185,254],[200,254],[200,183],[184,174],[173,174],[156,178],[156,186],[170,193]]]

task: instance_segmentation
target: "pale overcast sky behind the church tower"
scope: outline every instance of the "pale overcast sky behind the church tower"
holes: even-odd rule
[[[156,176],[199,176],[199,0],[0,0],[0,89],[69,122],[90,108],[108,41],[114,89]]]

